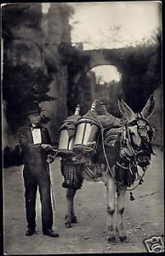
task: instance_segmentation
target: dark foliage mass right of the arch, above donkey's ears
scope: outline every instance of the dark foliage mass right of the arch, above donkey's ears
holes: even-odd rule
[[[153,90],[161,84],[160,63],[161,58],[156,46],[139,48],[134,56],[128,56],[125,60],[122,76],[123,91],[134,111],[140,111]],[[126,78],[127,74],[128,78]]]

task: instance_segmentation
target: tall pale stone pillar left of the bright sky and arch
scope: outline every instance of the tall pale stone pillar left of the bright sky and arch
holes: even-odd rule
[[[61,63],[60,44],[71,44],[69,25],[70,9],[64,3],[51,3],[48,14],[43,16],[42,28],[45,35],[44,56],[48,72],[53,77],[48,95],[54,96],[54,102],[43,102],[52,119],[48,128],[54,141],[59,132],[60,123],[67,116],[67,66]]]

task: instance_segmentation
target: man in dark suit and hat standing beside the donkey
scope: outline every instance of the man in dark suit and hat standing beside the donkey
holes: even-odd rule
[[[24,184],[26,197],[26,236],[32,236],[36,231],[36,197],[39,188],[42,204],[43,235],[59,237],[52,230],[53,210],[50,195],[50,176],[47,157],[52,150],[48,130],[40,125],[41,108],[37,102],[32,102],[28,108],[29,123],[20,127],[19,142],[24,155]]]

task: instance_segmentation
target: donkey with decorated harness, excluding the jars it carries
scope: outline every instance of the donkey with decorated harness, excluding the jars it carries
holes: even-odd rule
[[[101,115],[96,116],[100,121],[101,130],[97,152],[83,164],[81,164],[80,156],[78,156],[79,163],[82,166],[83,179],[105,183],[107,206],[106,234],[107,240],[112,244],[117,243],[116,234],[119,236],[120,241],[128,242],[123,225],[124,198],[128,187],[135,180],[139,180],[139,184],[143,182],[142,177],[150,165],[151,154],[154,154],[151,142],[155,132],[148,123],[154,106],[154,98],[150,96],[143,110],[140,113],[134,113],[126,102],[119,99],[118,108],[126,120],[124,125],[118,125],[114,129],[109,129],[102,125]],[[111,143],[111,131],[116,131],[117,135],[113,143]],[[139,174],[139,169],[142,175],[141,173]],[[66,228],[71,228],[71,223],[77,223],[77,217],[74,213],[74,196],[76,191],[77,189],[66,190]],[[117,224],[115,229],[116,192]],[[134,200],[133,196],[132,200]]]

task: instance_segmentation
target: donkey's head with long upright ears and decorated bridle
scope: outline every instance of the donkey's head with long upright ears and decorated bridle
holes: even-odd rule
[[[153,96],[150,96],[145,108],[140,113],[134,113],[123,100],[119,99],[118,101],[122,115],[128,120],[123,131],[122,155],[134,156],[138,166],[142,168],[150,164],[151,154],[153,154],[151,141],[155,132],[148,123],[148,119],[154,106]]]

